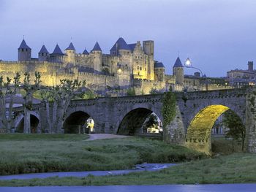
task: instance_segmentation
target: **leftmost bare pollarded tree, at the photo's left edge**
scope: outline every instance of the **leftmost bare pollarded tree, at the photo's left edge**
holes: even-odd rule
[[[8,133],[12,129],[13,121],[13,99],[17,93],[17,88],[20,85],[20,74],[16,73],[13,81],[7,77],[7,82],[4,82],[3,77],[0,77],[0,108],[1,108],[1,124]],[[7,101],[8,100],[8,101]],[[8,106],[7,106],[8,104]],[[8,109],[8,110],[7,110]]]

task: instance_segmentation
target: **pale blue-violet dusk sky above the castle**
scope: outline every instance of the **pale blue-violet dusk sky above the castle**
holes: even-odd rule
[[[23,35],[33,57],[43,44],[50,53],[57,42],[64,50],[71,37],[77,53],[96,41],[109,53],[118,37],[151,39],[167,74],[179,53],[208,77],[221,77],[256,64],[255,9],[255,0],[0,0],[0,59],[17,61]]]

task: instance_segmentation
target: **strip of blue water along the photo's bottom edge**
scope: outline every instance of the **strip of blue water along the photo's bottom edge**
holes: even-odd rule
[[[255,192],[256,184],[2,187],[1,192]]]

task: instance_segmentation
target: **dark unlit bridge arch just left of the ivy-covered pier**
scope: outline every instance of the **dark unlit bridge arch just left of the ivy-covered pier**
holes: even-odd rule
[[[157,115],[159,120],[162,121],[162,116],[159,115],[159,112],[153,111],[148,108],[138,107],[132,110],[129,110],[125,113],[125,115],[121,116],[120,123],[118,124],[117,134],[124,134],[124,135],[136,135],[142,134],[142,126],[145,120],[148,118],[149,115],[154,113]]]

